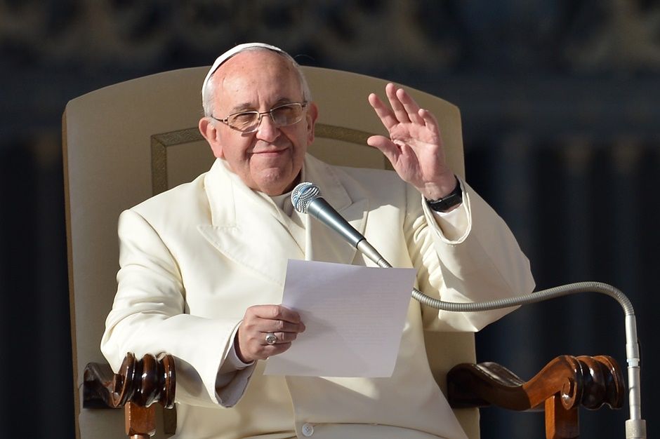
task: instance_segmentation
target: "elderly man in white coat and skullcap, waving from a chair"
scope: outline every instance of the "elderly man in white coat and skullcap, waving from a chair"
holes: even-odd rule
[[[438,313],[411,300],[390,378],[263,375],[305,322],[279,305],[287,259],[373,265],[294,211],[303,180],[428,295],[492,299],[534,288],[527,259],[489,206],[444,161],[432,114],[401,88],[369,103],[390,137],[369,144],[391,171],[337,168],[306,154],[319,109],[279,48],[232,48],[202,87],[208,173],[123,212],[120,270],[102,350],[168,352],[178,438],[464,438],[430,373],[423,329],[476,331],[506,311]],[[365,304],[365,306],[368,306]]]

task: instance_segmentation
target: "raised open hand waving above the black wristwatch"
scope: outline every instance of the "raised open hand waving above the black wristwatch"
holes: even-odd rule
[[[391,108],[374,93],[369,95],[369,104],[390,137],[374,135],[367,144],[380,149],[402,180],[416,187],[425,198],[447,196],[456,187],[456,177],[447,166],[435,116],[392,83],[385,86],[385,94]]]

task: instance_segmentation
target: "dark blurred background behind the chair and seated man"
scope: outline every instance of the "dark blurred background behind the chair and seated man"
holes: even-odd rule
[[[65,104],[209,65],[246,41],[457,104],[468,181],[513,229],[538,289],[593,280],[631,298],[642,414],[660,410],[659,1],[0,0],[1,437],[74,437]],[[625,366],[616,302],[555,299],[477,335],[478,360],[524,379],[562,353],[608,353]],[[621,438],[625,419],[627,408],[581,410],[581,437]],[[543,415],[482,410],[482,430],[541,438]]]

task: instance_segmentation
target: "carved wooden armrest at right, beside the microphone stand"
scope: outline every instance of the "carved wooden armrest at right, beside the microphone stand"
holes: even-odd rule
[[[447,374],[447,399],[454,408],[495,405],[546,411],[546,438],[576,438],[577,409],[623,405],[623,374],[609,356],[559,356],[529,381],[497,363],[462,363]]]

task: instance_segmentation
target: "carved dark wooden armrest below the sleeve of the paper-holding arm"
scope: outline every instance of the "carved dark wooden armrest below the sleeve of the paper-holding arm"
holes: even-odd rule
[[[176,372],[174,358],[161,353],[136,360],[133,353],[126,354],[114,374],[110,365],[88,363],[84,372],[83,407],[125,407],[126,435],[133,439],[150,438],[156,431],[155,407],[174,407]]]

